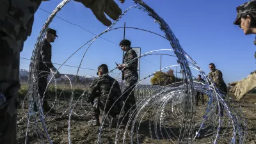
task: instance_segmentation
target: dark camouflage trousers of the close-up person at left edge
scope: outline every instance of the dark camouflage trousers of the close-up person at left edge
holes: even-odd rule
[[[20,47],[23,45],[0,31],[0,93],[3,93],[7,100],[0,106],[1,144],[17,143]]]

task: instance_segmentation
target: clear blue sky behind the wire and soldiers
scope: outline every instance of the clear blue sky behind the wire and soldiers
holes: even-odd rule
[[[230,83],[243,79],[255,70],[254,52],[256,47],[253,44],[255,35],[244,35],[243,31],[233,24],[236,19],[236,7],[246,1],[248,0],[215,0],[206,3],[203,0],[161,0],[159,3],[156,0],[145,0],[145,3],[166,21],[179,39],[184,51],[198,63],[206,74],[210,72],[209,63],[214,63],[216,68],[223,73],[225,83]],[[35,13],[33,32],[26,40],[24,50],[20,53],[20,69],[29,69],[30,61],[24,58],[31,58],[36,38],[45,20],[49,17],[47,12],[52,12],[59,3],[61,0],[43,2]],[[126,0],[124,4],[120,4],[119,1],[116,3],[123,12],[134,5],[131,0]],[[61,19],[55,17],[49,26],[56,29],[59,36],[52,43],[52,63],[63,63],[95,36],[92,33],[99,35],[108,28],[95,18],[90,9],[74,1],[66,4],[57,16]],[[137,8],[132,8],[125,13],[113,28],[124,27],[124,23],[126,27],[147,29],[164,35],[154,19]],[[123,38],[123,28],[105,33],[102,38],[93,42],[88,51],[86,49],[90,43],[84,45],[69,58],[65,65],[74,67],[62,66],[59,70],[60,73],[77,74],[76,67],[80,63],[83,68],[79,69],[79,76],[97,76],[97,71],[91,69],[97,69],[102,63],[107,64],[109,70],[114,69],[115,62],[122,63],[123,52],[118,44]],[[141,54],[157,49],[172,48],[164,38],[136,29],[125,29],[125,38],[131,40],[131,47],[140,47]],[[84,54],[85,52],[86,54]],[[154,55],[141,58],[140,79],[156,72],[160,66],[164,68],[177,65],[176,58],[163,55],[161,59],[159,54],[174,55],[172,51],[159,51],[154,52]],[[54,64],[54,67],[59,68],[60,65]],[[176,67],[172,68],[176,70]],[[197,76],[198,72],[191,70],[193,76]],[[119,70],[114,70],[110,76],[116,78],[119,72]],[[143,81],[142,84],[150,84],[150,78]]]

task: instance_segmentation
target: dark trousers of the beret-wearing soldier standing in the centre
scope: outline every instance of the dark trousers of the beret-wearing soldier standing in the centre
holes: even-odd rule
[[[136,99],[134,96],[134,87],[136,86],[136,83],[138,82],[138,77],[131,76],[125,79],[125,89],[122,95],[122,100],[124,103],[124,113],[127,113],[127,116],[129,113],[131,114],[134,109],[136,109]]]

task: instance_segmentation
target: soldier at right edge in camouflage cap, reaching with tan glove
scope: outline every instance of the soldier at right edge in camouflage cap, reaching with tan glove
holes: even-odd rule
[[[241,4],[236,8],[236,10],[237,17],[234,24],[239,25],[239,28],[244,31],[245,35],[256,34],[256,1],[252,0]],[[253,43],[256,45],[256,39]],[[256,59],[256,52],[254,57]],[[232,86],[230,92],[233,92],[238,100],[256,87],[255,72],[256,70],[251,72],[248,77],[242,79],[241,81],[228,83],[228,85]]]

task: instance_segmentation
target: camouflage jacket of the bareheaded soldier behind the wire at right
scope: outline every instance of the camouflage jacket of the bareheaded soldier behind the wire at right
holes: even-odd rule
[[[225,84],[222,76],[222,72],[218,69],[214,70],[214,72],[209,72],[209,78],[212,79],[217,88],[221,90],[221,93],[227,93],[227,85]]]

